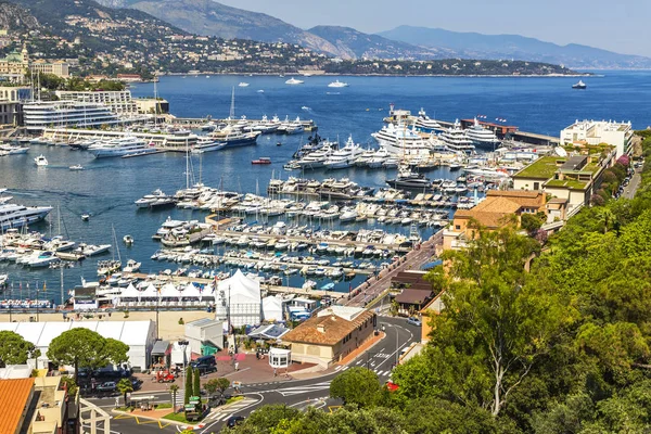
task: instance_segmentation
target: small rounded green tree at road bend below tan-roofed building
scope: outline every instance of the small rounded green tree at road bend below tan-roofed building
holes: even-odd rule
[[[330,396],[359,407],[373,406],[380,399],[380,382],[375,372],[354,367],[336,375],[330,383]]]

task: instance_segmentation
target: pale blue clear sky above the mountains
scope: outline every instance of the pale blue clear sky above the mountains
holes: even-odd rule
[[[651,0],[217,0],[301,28],[340,25],[365,33],[399,25],[514,34],[651,56]]]

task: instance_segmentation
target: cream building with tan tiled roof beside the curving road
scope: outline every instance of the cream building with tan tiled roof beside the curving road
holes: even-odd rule
[[[330,306],[301,323],[282,341],[291,345],[292,359],[329,368],[373,336],[378,317],[370,310]]]

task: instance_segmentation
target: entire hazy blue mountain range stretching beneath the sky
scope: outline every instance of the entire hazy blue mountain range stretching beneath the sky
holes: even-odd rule
[[[111,8],[146,12],[186,31],[226,39],[290,42],[341,59],[514,59],[574,68],[651,68],[651,59],[570,43],[559,46],[519,35],[482,35],[399,26],[376,35],[349,27],[302,29],[273,16],[213,0],[98,0]]]

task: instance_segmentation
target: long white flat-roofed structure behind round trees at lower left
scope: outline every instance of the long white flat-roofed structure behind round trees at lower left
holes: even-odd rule
[[[103,337],[111,337],[129,345],[128,365],[146,369],[156,341],[153,321],[69,321],[69,322],[0,322],[0,330],[9,330],[31,342],[41,352],[37,367],[48,366],[48,347],[53,339],[74,328],[86,328]]]

